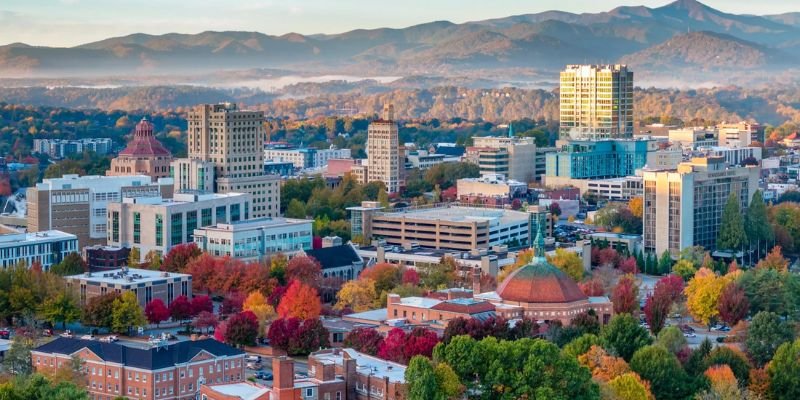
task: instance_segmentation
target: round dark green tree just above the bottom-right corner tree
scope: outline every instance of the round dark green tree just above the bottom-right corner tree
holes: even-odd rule
[[[747,329],[745,347],[758,366],[772,359],[780,345],[792,340],[792,328],[771,312],[761,311],[753,317]]]

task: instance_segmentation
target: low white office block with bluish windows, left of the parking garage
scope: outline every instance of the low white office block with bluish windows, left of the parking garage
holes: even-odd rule
[[[311,250],[312,220],[255,218],[217,223],[194,230],[197,247],[213,256],[261,261],[276,253],[292,256]]]

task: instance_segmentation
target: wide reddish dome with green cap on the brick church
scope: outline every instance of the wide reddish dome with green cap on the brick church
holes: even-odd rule
[[[564,271],[544,260],[534,260],[509,275],[497,294],[523,303],[571,303],[588,299]]]

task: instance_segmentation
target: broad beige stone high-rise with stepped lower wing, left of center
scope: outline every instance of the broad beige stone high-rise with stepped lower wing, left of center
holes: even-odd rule
[[[204,104],[189,112],[189,158],[213,162],[215,191],[250,193],[252,218],[280,214],[280,177],[264,174],[264,114],[236,104]]]

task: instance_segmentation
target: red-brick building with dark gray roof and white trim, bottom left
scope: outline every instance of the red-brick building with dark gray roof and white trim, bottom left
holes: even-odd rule
[[[31,351],[36,372],[70,368],[80,357],[92,400],[195,399],[205,383],[245,379],[245,353],[214,339],[143,349],[118,343],[57,338]]]

